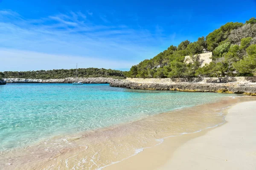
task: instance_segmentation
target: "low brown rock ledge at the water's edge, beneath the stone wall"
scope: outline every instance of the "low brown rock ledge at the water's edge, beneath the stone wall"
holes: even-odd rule
[[[128,79],[110,83],[113,87],[125,87],[148,90],[172,90],[172,91],[205,91],[219,93],[236,93],[256,96],[256,83],[253,82],[228,82],[228,83],[205,83],[205,82],[132,82]]]

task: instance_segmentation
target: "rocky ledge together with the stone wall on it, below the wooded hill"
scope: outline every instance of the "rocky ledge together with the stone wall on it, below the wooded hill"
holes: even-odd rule
[[[236,93],[256,96],[256,77],[239,78],[240,82],[235,82],[236,77],[226,79],[230,81],[226,83],[215,83],[214,78],[192,78],[190,79],[139,79],[129,78],[111,82],[113,87],[126,87],[133,89],[148,89],[148,90],[172,90],[172,91],[205,91],[218,93]],[[186,81],[187,82],[184,82]],[[201,81],[199,81],[201,80]],[[232,82],[233,80],[233,82]],[[194,81],[194,82],[191,82]],[[212,81],[212,82],[211,82]]]

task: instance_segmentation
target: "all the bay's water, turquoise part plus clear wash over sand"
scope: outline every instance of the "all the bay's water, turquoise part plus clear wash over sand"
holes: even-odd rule
[[[224,122],[218,109],[230,105],[227,100],[204,104],[229,96],[237,95],[132,90],[107,84],[0,86],[0,167],[101,168],[159,144],[166,136]],[[188,110],[157,116],[180,108]],[[25,166],[28,160],[34,164]]]

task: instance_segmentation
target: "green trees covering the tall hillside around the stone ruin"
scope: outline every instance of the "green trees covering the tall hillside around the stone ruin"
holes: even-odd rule
[[[199,56],[212,51],[212,62],[201,67]],[[192,62],[185,62],[190,56]],[[188,40],[151,59],[133,65],[127,77],[225,77],[253,76],[256,74],[256,18],[246,23],[227,23],[200,37],[196,42]]]

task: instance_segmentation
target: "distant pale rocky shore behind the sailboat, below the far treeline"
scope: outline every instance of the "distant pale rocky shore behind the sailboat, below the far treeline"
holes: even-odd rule
[[[72,83],[76,79],[68,77],[65,79],[20,79],[20,78],[8,78],[4,79],[7,83]],[[111,77],[89,77],[89,78],[78,78],[77,81],[83,83],[110,83],[117,81]]]

